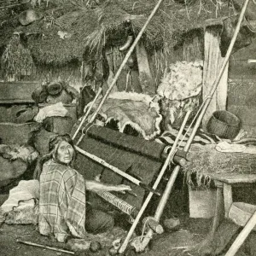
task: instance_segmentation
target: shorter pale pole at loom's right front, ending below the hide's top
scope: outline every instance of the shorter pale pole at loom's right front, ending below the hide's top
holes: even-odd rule
[[[177,133],[177,137],[175,139],[175,142],[173,143],[173,146],[169,152],[169,154],[167,155],[167,158],[166,158],[166,161],[164,163],[164,166],[162,166],[161,170],[160,170],[160,174],[158,175],[157,179],[155,180],[154,182],[154,185],[153,185],[153,189],[157,189],[157,186],[159,185],[160,183],[160,180],[161,178],[163,177],[163,175],[165,174],[166,172],[166,169],[167,167],[170,165],[170,162],[172,160],[172,157],[173,155],[175,154],[175,151],[176,151],[176,148],[177,148],[177,143],[179,141],[179,138],[182,136],[182,133],[183,133],[183,130],[184,130],[184,127],[185,125],[187,124],[187,121],[189,119],[189,115],[190,115],[190,111],[188,111],[183,119],[183,124],[181,125],[180,127],[180,130],[178,131]],[[152,198],[152,195],[153,193],[149,193],[146,200],[143,202],[143,207],[141,207],[140,211],[138,212],[137,214],[137,217],[136,219],[134,220],[133,224],[131,225],[131,229],[129,230],[127,236],[125,237],[125,240],[123,241],[121,247],[119,247],[119,253],[124,253],[125,252],[125,249],[131,239],[131,236],[134,232],[134,230],[136,229],[137,227],[137,224],[140,220],[140,218],[142,217],[143,215],[143,212],[145,211],[146,207],[148,207],[148,203],[149,201],[151,200]]]

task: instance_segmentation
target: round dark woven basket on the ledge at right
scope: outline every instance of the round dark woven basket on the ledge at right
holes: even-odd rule
[[[221,138],[233,139],[240,131],[241,120],[233,113],[218,110],[212,113],[207,131]]]

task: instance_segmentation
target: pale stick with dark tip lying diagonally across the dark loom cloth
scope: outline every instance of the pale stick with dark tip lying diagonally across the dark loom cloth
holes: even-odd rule
[[[143,189],[146,189],[156,195],[160,195],[157,191],[155,191],[155,189],[150,188],[146,183],[142,183],[136,177],[132,177],[128,173],[121,171],[119,168],[109,165],[105,160],[102,160],[102,158],[97,157],[95,154],[90,154],[90,153],[84,151],[83,149],[79,148],[78,146],[74,146],[74,148],[77,151],[79,151],[80,154],[84,154],[85,156],[89,157],[91,160],[95,160],[96,162],[100,163],[102,166],[107,167],[108,169],[112,170],[113,172],[118,173],[120,176],[125,177],[126,179],[130,180],[132,183],[137,184],[137,186],[140,186]]]

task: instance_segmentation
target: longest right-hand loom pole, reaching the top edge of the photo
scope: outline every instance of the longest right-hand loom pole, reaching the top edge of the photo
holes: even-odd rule
[[[185,147],[183,148],[183,151],[185,152],[188,152],[189,151],[189,148],[191,146],[191,143],[193,142],[194,140],[194,137],[195,137],[195,133],[196,131],[198,130],[199,126],[201,125],[201,120],[203,119],[204,117],[204,114],[206,113],[207,111],[207,108],[211,102],[211,99],[212,99],[212,96],[215,92],[215,90],[217,90],[217,87],[218,87],[218,83],[224,73],[224,69],[230,59],[230,55],[231,55],[231,51],[234,47],[234,44],[236,43],[236,38],[237,38],[237,35],[238,35],[238,32],[240,30],[240,27],[241,27],[241,21],[243,19],[243,16],[245,14],[245,11],[247,9],[247,4],[248,4],[249,0],[245,0],[244,3],[243,3],[243,6],[242,6],[242,9],[241,9],[241,14],[239,16],[239,19],[238,19],[238,22],[237,22],[237,25],[236,25],[236,30],[234,32],[234,35],[233,35],[233,38],[231,39],[230,41],[230,46],[229,46],[229,49],[227,50],[227,53],[225,55],[225,58],[224,58],[224,63],[218,73],[218,77],[217,79],[214,81],[214,83],[212,84],[212,90],[210,92],[210,95],[207,97],[206,101],[203,102],[203,107],[201,108],[201,113],[199,114],[198,116],[198,119],[196,119],[196,122],[195,122],[195,126],[189,136],[189,139],[185,145]],[[159,221],[160,220],[160,217],[161,217],[161,214],[164,210],[164,207],[166,206],[166,201],[168,200],[169,198],[169,195],[172,191],[172,187],[173,187],[173,184],[175,183],[175,180],[176,180],[176,177],[177,177],[177,174],[180,170],[180,166],[175,166],[173,172],[172,172],[172,175],[171,175],[171,178],[169,179],[167,185],[166,185],[166,189],[165,189],[165,192],[163,193],[161,199],[160,199],[160,202],[159,202],[159,205],[155,211],[155,215],[154,215],[154,218]],[[148,230],[148,233],[147,235],[144,237],[143,241],[142,241],[142,245],[140,247],[140,249],[143,251],[145,249],[145,247],[147,247],[148,245],[148,242],[152,239],[152,235],[153,235],[153,230]]]

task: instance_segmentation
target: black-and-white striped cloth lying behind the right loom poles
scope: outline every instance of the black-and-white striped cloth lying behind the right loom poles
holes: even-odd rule
[[[169,131],[164,131],[159,137],[155,138],[155,142],[164,143],[166,145],[173,145],[177,137],[178,131],[179,129],[176,129],[176,128],[172,128],[172,130],[169,130]],[[187,128],[185,128],[183,131],[183,135],[180,137],[180,140],[182,141],[180,142],[180,144],[178,143],[178,145],[181,148],[183,148],[187,143],[192,129],[189,129],[188,132],[187,131],[188,131]],[[200,145],[217,144],[220,141],[221,139],[218,136],[209,134],[203,131],[202,129],[198,129],[195,133],[193,144],[200,144]]]

